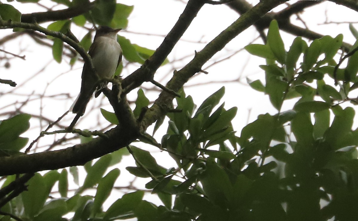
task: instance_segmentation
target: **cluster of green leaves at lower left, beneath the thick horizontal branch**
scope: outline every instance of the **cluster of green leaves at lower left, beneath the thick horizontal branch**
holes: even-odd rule
[[[49,171],[43,176],[35,173],[35,176],[26,183],[28,190],[21,193],[1,208],[24,220],[63,220],[62,216],[73,212],[72,220],[87,220],[97,218],[98,220],[114,220],[117,216],[131,217],[132,211],[137,208],[144,192],[138,191],[124,195],[113,203],[107,212],[103,212],[102,205],[110,195],[115,181],[120,175],[117,168],[107,172],[109,167],[118,164],[124,155],[129,154],[126,149],[120,149],[107,154],[95,163],[88,162],[84,165],[86,178],[79,185],[79,168],[64,168],[61,172]],[[69,173],[78,188],[73,196],[68,197]],[[8,176],[2,188],[14,181],[16,175]],[[54,197],[52,189],[57,186],[61,197]],[[95,196],[83,195],[83,192],[92,188],[96,189]],[[9,216],[3,216],[1,220],[10,220]]]

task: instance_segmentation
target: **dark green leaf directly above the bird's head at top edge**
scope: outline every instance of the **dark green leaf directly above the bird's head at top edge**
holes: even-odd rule
[[[97,0],[91,8],[91,17],[99,25],[111,24],[116,11],[116,0]]]

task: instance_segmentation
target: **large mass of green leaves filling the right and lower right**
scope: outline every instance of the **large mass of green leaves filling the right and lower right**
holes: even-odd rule
[[[286,51],[273,21],[267,44],[246,49],[266,58],[260,66],[266,85],[259,80],[250,85],[268,94],[278,113],[258,116],[240,137],[231,125],[236,108],[222,104],[214,110],[223,88],[199,108],[181,92],[180,112],[168,114],[161,141],[178,167],[160,166],[149,152],[131,147],[140,163],[127,170],[151,177],[146,188],[164,204],[148,206],[150,215],[139,220],[354,220],[358,130],[352,130],[353,108],[340,103],[352,100],[357,53],[337,69],[338,90],[326,83],[335,80],[334,56],[342,41],[342,35],[325,36],[308,46],[296,38]],[[281,110],[292,98],[297,99],[292,110]]]

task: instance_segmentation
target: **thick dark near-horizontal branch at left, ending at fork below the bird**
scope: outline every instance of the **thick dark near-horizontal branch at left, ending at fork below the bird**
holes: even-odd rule
[[[108,138],[98,137],[62,150],[1,157],[0,176],[84,165],[92,159],[126,147],[139,137],[137,128],[126,125],[117,126],[105,134]]]

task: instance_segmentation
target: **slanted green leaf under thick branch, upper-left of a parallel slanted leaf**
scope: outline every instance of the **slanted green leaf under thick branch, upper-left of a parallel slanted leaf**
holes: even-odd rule
[[[98,161],[89,168],[83,186],[77,190],[77,193],[81,193],[83,190],[96,185],[96,183],[102,179],[103,174],[110,165],[111,159],[112,157],[108,154],[98,159]]]

